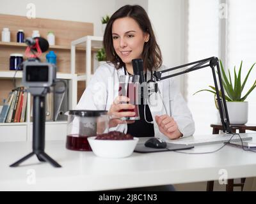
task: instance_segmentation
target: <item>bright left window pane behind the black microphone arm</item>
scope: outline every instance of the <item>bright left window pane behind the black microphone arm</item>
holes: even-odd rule
[[[219,56],[218,6],[216,0],[188,1],[187,62]],[[195,120],[195,135],[211,134],[210,124],[217,120],[214,94],[200,92],[193,96],[196,91],[206,89],[208,85],[214,85],[211,68],[193,71],[185,77],[185,95]]]

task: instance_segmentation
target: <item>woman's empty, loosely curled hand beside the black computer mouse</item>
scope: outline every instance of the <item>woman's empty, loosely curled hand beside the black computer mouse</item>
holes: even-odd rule
[[[173,119],[173,117],[170,117],[169,115],[156,115],[156,122],[159,131],[168,136],[168,138],[177,139],[182,136],[182,133],[179,131],[177,122]]]

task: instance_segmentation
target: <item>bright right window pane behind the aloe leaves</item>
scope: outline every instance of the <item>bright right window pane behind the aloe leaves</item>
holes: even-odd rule
[[[228,1],[227,20],[227,67],[239,69],[243,60],[242,80],[256,62],[256,1],[232,0]],[[242,96],[252,87],[256,80],[256,67],[250,73]],[[248,123],[256,122],[256,89],[246,99],[249,103]]]

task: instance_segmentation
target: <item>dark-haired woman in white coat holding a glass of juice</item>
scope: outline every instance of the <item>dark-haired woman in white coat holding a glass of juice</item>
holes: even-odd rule
[[[146,81],[152,79],[152,71],[166,69],[146,11],[138,5],[117,10],[108,22],[103,44],[108,63],[95,71],[77,109],[108,110],[116,117],[111,127],[133,136],[177,139],[193,135],[193,118],[174,78],[158,82],[159,91],[148,104],[139,105],[140,120],[118,119],[135,114],[134,105],[126,103],[129,98],[118,96],[120,76],[133,75],[132,59],[143,59]]]

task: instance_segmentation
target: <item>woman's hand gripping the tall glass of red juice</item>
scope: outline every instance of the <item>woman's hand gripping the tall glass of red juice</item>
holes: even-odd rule
[[[126,96],[118,96],[115,98],[108,112],[108,115],[110,115],[110,117],[113,117],[109,124],[110,128],[115,127],[118,124],[130,124],[134,122],[134,120],[121,120],[123,117],[132,117],[135,115],[135,112],[132,111],[134,110],[135,106],[127,103],[129,102],[129,100],[130,99]]]

